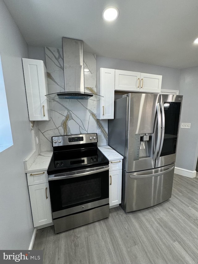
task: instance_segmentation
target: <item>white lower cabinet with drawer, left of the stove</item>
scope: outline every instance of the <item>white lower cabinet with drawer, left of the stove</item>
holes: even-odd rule
[[[33,184],[28,186],[28,188],[34,227],[52,223],[49,183],[45,175],[47,175],[45,171],[27,174],[28,184]],[[43,178],[43,176],[45,177]],[[39,182],[39,177],[41,178],[40,182],[46,182],[35,184],[33,178],[37,179],[36,181]]]

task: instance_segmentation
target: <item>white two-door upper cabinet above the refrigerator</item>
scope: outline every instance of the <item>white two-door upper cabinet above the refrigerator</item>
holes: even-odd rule
[[[115,90],[160,93],[161,75],[115,70]]]

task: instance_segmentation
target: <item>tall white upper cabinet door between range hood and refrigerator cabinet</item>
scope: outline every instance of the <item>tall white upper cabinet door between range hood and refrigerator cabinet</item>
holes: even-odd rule
[[[97,119],[114,119],[114,86],[115,70],[100,69],[100,95],[98,101]]]

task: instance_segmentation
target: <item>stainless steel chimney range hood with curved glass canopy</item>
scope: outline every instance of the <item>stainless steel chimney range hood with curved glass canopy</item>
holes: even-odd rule
[[[83,41],[62,38],[65,92],[56,93],[60,99],[98,100],[101,96],[84,91]],[[50,94],[53,96],[54,94]],[[50,98],[49,96],[47,96]]]

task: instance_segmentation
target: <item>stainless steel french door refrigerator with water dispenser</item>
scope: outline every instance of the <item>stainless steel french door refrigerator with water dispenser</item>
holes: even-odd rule
[[[126,212],[171,197],[182,95],[129,93],[115,100],[108,145],[123,155]]]

